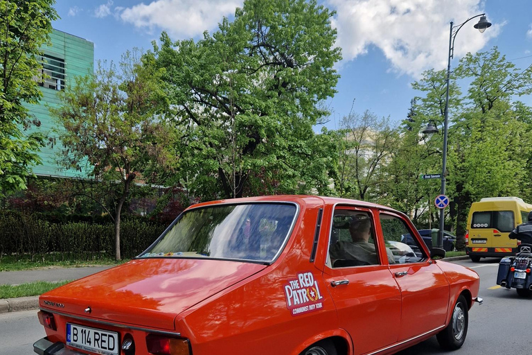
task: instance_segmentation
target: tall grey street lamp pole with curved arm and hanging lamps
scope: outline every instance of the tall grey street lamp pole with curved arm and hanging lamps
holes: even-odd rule
[[[463,27],[468,21],[480,17],[475,28],[477,28],[480,33],[484,33],[486,28],[491,26],[491,23],[486,19],[486,14],[480,14],[469,19],[466,19],[462,24],[453,26],[454,22],[451,21],[450,24],[450,33],[449,33],[449,55],[447,57],[447,89],[445,92],[445,119],[443,121],[443,164],[441,168],[441,195],[445,195],[445,171],[447,170],[447,126],[449,118],[449,78],[451,76],[451,60],[454,57],[454,40],[456,39],[456,34],[460,31],[460,28]],[[425,134],[431,134],[438,132],[438,129],[434,125],[427,125],[427,128],[423,130]],[[440,229],[438,230],[438,248],[443,248],[443,228],[445,227],[445,209],[440,209]]]

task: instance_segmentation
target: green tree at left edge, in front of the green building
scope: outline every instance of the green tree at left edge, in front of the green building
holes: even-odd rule
[[[0,184],[2,191],[25,189],[30,166],[44,136],[28,133],[39,121],[24,103],[38,103],[42,93],[33,78],[37,56],[57,19],[55,0],[0,0]]]

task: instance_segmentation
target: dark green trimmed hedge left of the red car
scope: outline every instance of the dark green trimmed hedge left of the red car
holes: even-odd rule
[[[139,219],[121,222],[121,255],[131,258],[155,240],[165,225]],[[102,253],[114,256],[114,224],[88,222],[51,223],[38,214],[4,212],[0,215],[1,254],[59,252],[62,258],[92,259]]]

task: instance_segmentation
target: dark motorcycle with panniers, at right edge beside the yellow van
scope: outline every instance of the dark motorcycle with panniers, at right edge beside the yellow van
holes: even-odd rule
[[[504,257],[499,262],[497,285],[515,288],[517,295],[532,295],[532,244],[521,244],[514,257]]]

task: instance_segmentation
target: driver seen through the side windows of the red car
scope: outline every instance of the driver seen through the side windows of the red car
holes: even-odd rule
[[[375,243],[370,243],[371,220],[366,216],[356,216],[349,223],[351,241],[338,241],[331,246],[329,253],[334,267],[378,265]],[[395,263],[391,250],[387,248],[389,263]]]

